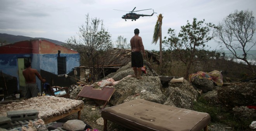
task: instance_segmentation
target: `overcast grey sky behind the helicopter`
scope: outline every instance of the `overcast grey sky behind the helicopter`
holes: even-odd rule
[[[151,17],[140,17],[136,21],[121,18],[128,12],[152,8]],[[113,10],[116,9],[116,10]],[[235,10],[250,10],[256,15],[256,0],[0,0],[0,33],[43,37],[65,42],[76,35],[78,27],[84,25],[85,15],[104,21],[104,26],[116,41],[119,35],[130,38],[135,28],[147,50],[159,50],[159,42],[151,44],[157,15],[163,14],[162,36],[169,28],[180,31],[182,25],[193,18],[218,24]],[[145,10],[142,14],[152,14]],[[216,49],[214,41],[208,42]]]

